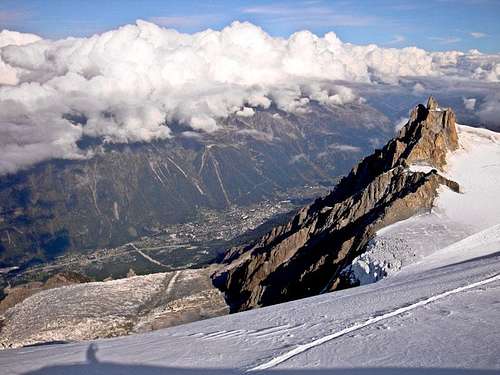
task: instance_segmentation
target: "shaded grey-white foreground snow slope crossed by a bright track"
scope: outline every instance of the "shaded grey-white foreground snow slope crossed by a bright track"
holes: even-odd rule
[[[426,374],[460,373],[446,370],[456,368],[498,373],[498,228],[490,235],[489,242],[497,249],[493,255],[494,247],[484,254],[481,247],[470,253],[461,242],[452,249],[451,258],[443,254],[436,259],[436,254],[432,261],[424,259],[375,284],[143,335],[98,340],[93,343],[96,355],[89,342],[5,350],[0,352],[0,372],[243,373],[271,364],[275,366],[270,369],[286,369],[285,373],[301,369],[306,374],[313,369],[387,373],[382,372],[387,367]],[[458,253],[460,262],[454,263]]]

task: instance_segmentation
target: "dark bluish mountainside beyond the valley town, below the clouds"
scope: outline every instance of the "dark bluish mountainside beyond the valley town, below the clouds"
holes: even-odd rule
[[[84,138],[79,147],[94,154],[90,159],[53,160],[0,177],[0,267],[122,245],[189,221],[200,208],[330,186],[392,133],[387,117],[368,105],[314,102],[305,113],[270,108],[220,119],[214,133],[170,127],[173,138],[161,142]]]

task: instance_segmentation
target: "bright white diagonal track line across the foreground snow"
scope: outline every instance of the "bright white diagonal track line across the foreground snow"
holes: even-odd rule
[[[362,328],[365,328],[365,327],[368,327],[370,325],[373,325],[375,323],[378,323],[382,320],[386,320],[386,319],[389,319],[389,318],[393,318],[395,316],[398,316],[398,315],[402,315],[408,311],[411,311],[411,310],[414,310],[416,308],[419,308],[419,307],[422,307],[422,306],[425,306],[429,303],[432,303],[432,302],[435,302],[435,301],[438,301],[440,299],[443,299],[443,298],[446,298],[448,296],[451,296],[453,294],[457,294],[457,293],[460,293],[460,292],[463,292],[463,291],[466,291],[466,290],[469,290],[469,289],[473,289],[473,288],[476,288],[478,286],[482,286],[482,285],[486,285],[486,284],[489,284],[489,283],[492,283],[494,281],[498,281],[500,280],[500,274],[497,274],[495,276],[492,276],[492,277],[489,277],[487,279],[484,279],[484,280],[481,280],[481,281],[478,281],[478,282],[475,282],[475,283],[472,283],[472,284],[468,284],[468,285],[465,285],[465,286],[462,286],[462,287],[459,287],[459,288],[455,288],[455,289],[451,289],[451,290],[448,290],[446,292],[443,292],[443,293],[440,293],[440,294],[436,294],[434,296],[431,296],[429,298],[426,298],[422,301],[419,301],[419,302],[416,302],[416,303],[413,303],[409,306],[404,306],[404,307],[400,307],[396,310],[393,310],[391,312],[388,312],[388,313],[385,313],[385,314],[382,314],[382,315],[378,315],[378,316],[375,316],[373,318],[370,318],[364,322],[361,322],[361,323],[357,323],[351,327],[348,327],[348,328],[345,328],[341,331],[338,331],[338,332],[335,332],[335,333],[332,333],[330,335],[327,335],[327,336],[323,336],[317,340],[314,340],[314,341],[311,341],[311,342],[308,342],[306,344],[303,344],[303,345],[299,345],[297,346],[295,349],[292,349],[286,353],[283,353],[277,357],[274,357],[272,358],[270,361],[267,361],[267,362],[264,362],[258,366],[255,366],[255,367],[252,367],[250,369],[248,369],[246,372],[254,372],[254,371],[262,371],[262,370],[267,370],[267,369],[270,369],[272,367],[275,367],[287,360],[289,360],[290,358],[292,357],[295,357],[309,349],[312,349],[314,347],[317,347],[319,345],[322,345],[326,342],[329,342],[333,339],[336,339],[338,337],[341,337],[341,336],[344,336],[348,333],[351,333],[351,332],[354,332],[354,331],[357,331],[359,329],[362,329]]]

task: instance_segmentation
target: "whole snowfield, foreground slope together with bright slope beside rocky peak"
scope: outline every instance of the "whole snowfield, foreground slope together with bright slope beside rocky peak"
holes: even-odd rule
[[[393,246],[412,254],[391,277],[141,335],[5,350],[0,373],[498,374],[500,225],[487,200],[500,142],[489,133],[460,128],[447,172],[464,194],[443,190],[431,214],[379,233],[411,248]]]

